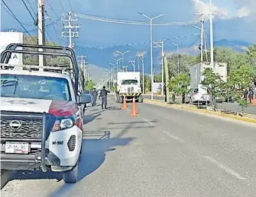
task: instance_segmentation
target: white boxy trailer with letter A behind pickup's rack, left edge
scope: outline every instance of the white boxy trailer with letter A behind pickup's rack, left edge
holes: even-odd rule
[[[23,43],[22,32],[0,32],[0,53],[11,43]],[[8,62],[11,65],[23,65],[23,56],[21,53],[11,53],[11,59]]]

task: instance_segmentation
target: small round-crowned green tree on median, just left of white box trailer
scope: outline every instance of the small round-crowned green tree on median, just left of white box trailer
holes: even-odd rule
[[[189,92],[188,87],[190,86],[190,78],[185,74],[180,74],[169,81],[169,89],[175,95],[182,96],[182,103],[185,103],[185,95]]]

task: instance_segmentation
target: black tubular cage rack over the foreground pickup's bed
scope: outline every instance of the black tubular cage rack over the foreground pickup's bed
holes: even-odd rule
[[[42,46],[32,46],[34,48],[41,49]],[[44,46],[43,46],[44,47]],[[47,47],[46,47],[47,48]],[[5,57],[11,56],[11,53],[20,53],[20,54],[31,54],[31,55],[43,55],[43,56],[61,56],[61,57],[68,57],[73,65],[73,68],[68,68],[68,67],[51,67],[51,66],[30,66],[30,65],[10,65],[8,64],[9,59],[5,59]],[[74,54],[74,53],[73,53]],[[45,71],[45,69],[51,69],[55,71],[61,71],[63,73],[63,71],[69,71],[70,75],[74,75],[74,79],[75,79],[75,91],[78,91],[78,81],[79,81],[79,69],[76,63],[76,58],[75,56],[70,55],[69,53],[60,53],[60,52],[38,52],[38,51],[26,51],[26,50],[16,50],[16,49],[5,49],[2,53],[2,58],[1,58],[1,69],[8,69],[8,68],[15,68],[15,67],[21,67],[21,68],[43,68],[43,70]],[[8,61],[7,61],[8,60]],[[6,64],[7,62],[7,64]],[[31,69],[30,68],[30,69]],[[72,72],[73,71],[73,72]]]

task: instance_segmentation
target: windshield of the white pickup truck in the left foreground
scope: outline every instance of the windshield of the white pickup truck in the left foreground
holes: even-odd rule
[[[65,78],[31,75],[1,75],[1,97],[71,100]]]

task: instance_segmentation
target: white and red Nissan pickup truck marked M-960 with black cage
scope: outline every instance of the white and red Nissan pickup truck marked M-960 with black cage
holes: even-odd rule
[[[15,47],[2,52],[1,169],[63,172],[65,183],[76,183],[83,145],[81,105],[91,100],[88,94],[79,93],[75,56],[34,52],[70,57],[74,74],[71,78],[64,74],[66,68],[54,67],[63,71],[60,73],[49,71],[52,68],[47,66],[39,71],[38,65],[10,65],[11,52],[31,54]]]

